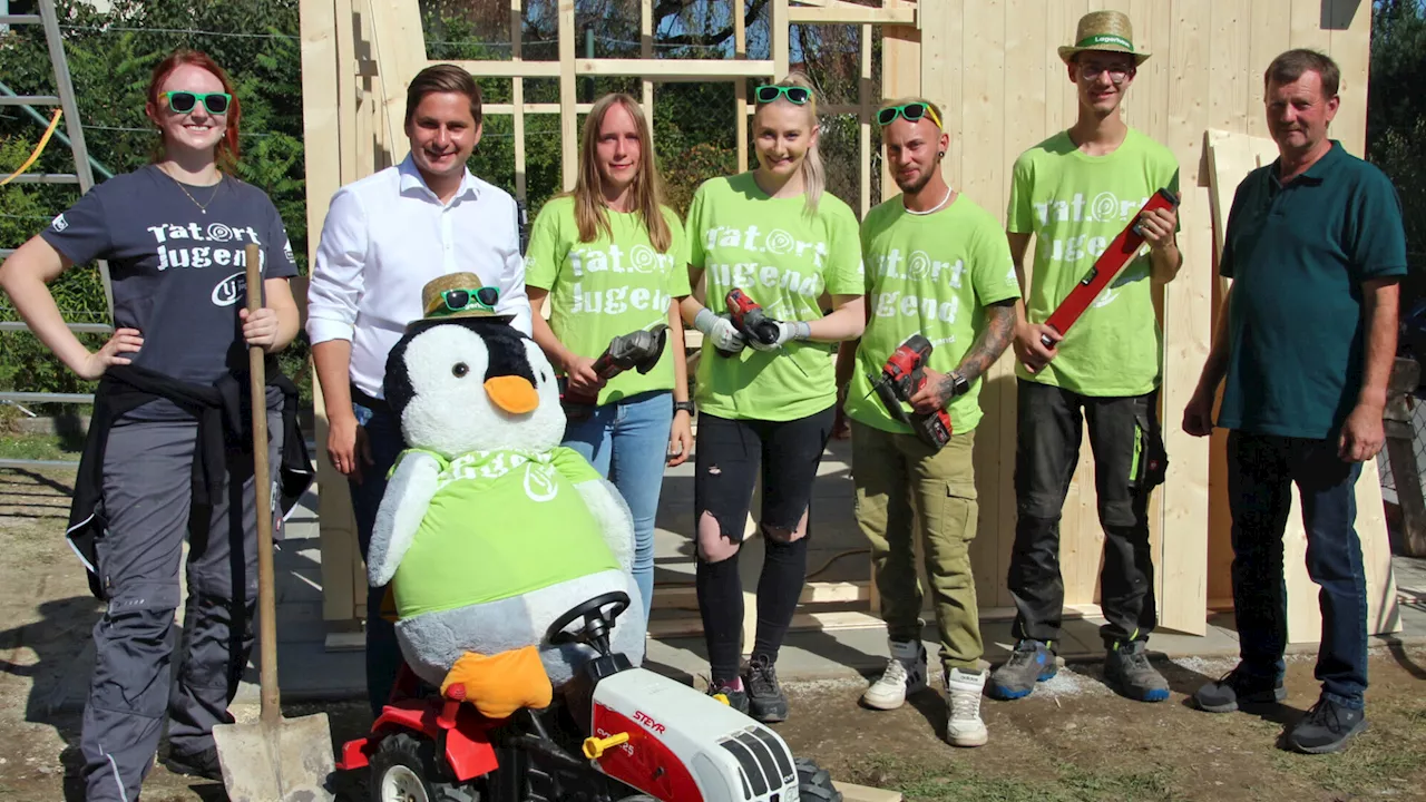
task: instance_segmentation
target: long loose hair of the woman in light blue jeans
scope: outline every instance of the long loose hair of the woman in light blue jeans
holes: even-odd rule
[[[639,131],[639,173],[630,188],[633,210],[649,231],[653,250],[662,254],[673,244],[673,233],[669,231],[669,221],[663,217],[663,181],[653,163],[653,137],[649,136],[649,121],[645,118],[643,110],[639,108],[639,101],[625,93],[610,93],[600,97],[589,110],[589,116],[585,117],[585,138],[579,146],[579,174],[575,178],[573,191],[568,193],[575,198],[579,241],[593,241],[600,230],[613,238],[600,191],[603,178],[599,176],[599,128],[605,124],[605,116],[616,104],[623,106],[625,111],[633,117],[635,128]]]

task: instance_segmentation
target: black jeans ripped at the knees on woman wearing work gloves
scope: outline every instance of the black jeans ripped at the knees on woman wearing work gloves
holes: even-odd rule
[[[733,544],[743,539],[753,487],[763,477],[763,572],[757,581],[754,655],[776,662],[777,651],[801,597],[811,538],[811,485],[831,437],[834,407],[791,421],[729,420],[699,412],[694,527],[709,512]],[[794,531],[803,512],[807,534],[794,541],[767,537],[767,529]],[[737,554],[710,561],[699,549],[697,595],[713,682],[737,678],[743,632],[743,582]]]

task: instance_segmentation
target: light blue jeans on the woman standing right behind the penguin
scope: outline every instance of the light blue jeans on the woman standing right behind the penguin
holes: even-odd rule
[[[645,618],[653,604],[653,519],[672,425],[673,392],[663,390],[595,407],[588,418],[565,427],[565,445],[612,481],[633,514],[633,581]]]

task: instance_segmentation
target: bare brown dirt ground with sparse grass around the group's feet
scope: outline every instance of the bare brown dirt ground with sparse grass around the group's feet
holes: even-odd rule
[[[0,799],[83,799],[76,743],[81,712],[66,688],[87,676],[98,606],[64,545],[64,474],[0,469]],[[1303,756],[1278,742],[1316,699],[1312,658],[1289,662],[1285,705],[1209,715],[1185,694],[1226,661],[1161,662],[1168,702],[1122,699],[1097,665],[1075,665],[1020,702],[987,699],[990,743],[941,741],[944,702],[931,691],[894,712],[857,705],[864,685],[789,686],[793,716],[779,732],[833,776],[898,789],[906,799],[988,801],[1426,801],[1426,649],[1373,652],[1370,726],[1343,755]],[[937,685],[938,686],[938,685]],[[291,706],[287,715],[311,712]],[[364,704],[322,705],[334,743],[369,724]],[[344,799],[365,799],[359,778]],[[220,785],[157,766],[145,802],[221,801]]]

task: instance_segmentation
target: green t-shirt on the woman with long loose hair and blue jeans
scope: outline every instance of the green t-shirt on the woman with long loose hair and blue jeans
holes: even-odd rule
[[[595,241],[579,241],[575,198],[546,203],[530,230],[525,283],[550,291],[549,325],[566,348],[597,358],[615,337],[669,320],[669,303],[689,294],[687,243],[683,223],[665,207],[672,243],[659,253],[637,213],[605,210],[613,238],[599,230]],[[536,313],[538,314],[538,313]],[[673,360],[665,348],[647,374],[623,371],[599,391],[599,404],[673,388]]]

